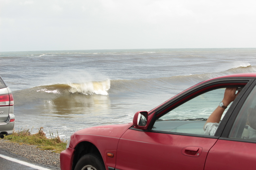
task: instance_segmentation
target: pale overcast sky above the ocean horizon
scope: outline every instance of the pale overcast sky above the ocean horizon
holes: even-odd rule
[[[0,51],[256,47],[255,0],[0,0]]]

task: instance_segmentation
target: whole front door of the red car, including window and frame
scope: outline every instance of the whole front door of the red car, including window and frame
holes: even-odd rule
[[[132,127],[120,138],[116,169],[204,169],[207,154],[219,137],[204,134],[205,121],[222,100],[224,87],[247,83],[208,82],[153,110],[151,127]]]

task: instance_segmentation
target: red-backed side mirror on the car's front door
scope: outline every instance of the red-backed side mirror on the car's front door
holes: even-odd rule
[[[138,129],[145,129],[148,121],[148,112],[147,111],[138,111],[133,117],[133,125]]]

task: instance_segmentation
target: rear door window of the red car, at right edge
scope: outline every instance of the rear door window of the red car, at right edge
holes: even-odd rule
[[[241,107],[229,138],[256,140],[256,86]]]

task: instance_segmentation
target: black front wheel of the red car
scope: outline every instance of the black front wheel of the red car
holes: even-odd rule
[[[74,170],[105,170],[105,166],[100,155],[88,153],[79,159]]]

